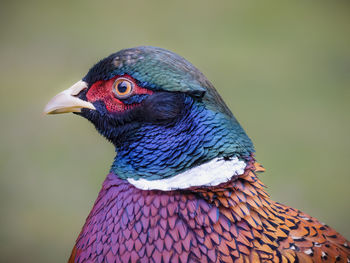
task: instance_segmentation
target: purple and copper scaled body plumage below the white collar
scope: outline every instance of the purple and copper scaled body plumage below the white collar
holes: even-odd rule
[[[210,188],[143,191],[109,174],[69,262],[349,262],[348,241],[272,201],[252,160]]]

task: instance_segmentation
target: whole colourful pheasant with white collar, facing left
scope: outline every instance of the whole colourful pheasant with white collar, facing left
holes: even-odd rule
[[[86,118],[116,151],[68,262],[350,262],[345,237],[270,199],[251,139],[174,52],[113,53],[44,112]]]

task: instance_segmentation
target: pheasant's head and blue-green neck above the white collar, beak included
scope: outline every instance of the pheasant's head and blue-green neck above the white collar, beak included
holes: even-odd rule
[[[114,144],[111,171],[121,178],[168,178],[214,158],[244,159],[254,151],[208,79],[181,56],[156,47],[102,59],[44,111],[91,121]]]

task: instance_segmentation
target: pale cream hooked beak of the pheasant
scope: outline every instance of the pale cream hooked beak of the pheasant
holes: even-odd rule
[[[85,81],[79,80],[69,89],[62,91],[53,97],[46,105],[44,113],[58,114],[67,112],[81,112],[82,108],[96,110],[92,103],[76,97],[80,91],[87,88],[87,83]]]

